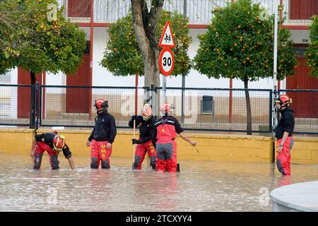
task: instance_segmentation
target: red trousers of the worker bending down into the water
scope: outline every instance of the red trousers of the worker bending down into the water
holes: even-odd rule
[[[59,169],[59,160],[57,159],[57,156],[59,155],[59,153],[57,153],[56,150],[53,150],[49,145],[43,142],[37,142],[35,144],[35,156],[34,156],[33,169],[41,168],[42,155],[45,152],[45,150],[49,154],[49,165],[51,165],[51,169]]]

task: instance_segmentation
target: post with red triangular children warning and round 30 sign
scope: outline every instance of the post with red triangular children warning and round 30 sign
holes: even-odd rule
[[[173,71],[173,67],[175,66],[175,57],[173,56],[173,52],[170,48],[175,48],[175,41],[173,39],[173,33],[170,25],[170,21],[167,20],[165,23],[165,28],[163,29],[163,34],[160,37],[159,47],[163,47],[159,54],[159,69],[163,74],[163,100],[167,102],[166,97],[166,84],[167,84],[167,76]]]

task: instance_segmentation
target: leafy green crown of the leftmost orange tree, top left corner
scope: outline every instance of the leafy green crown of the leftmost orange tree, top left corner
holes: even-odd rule
[[[52,12],[49,4],[58,6],[56,0],[7,0],[2,4],[6,12],[11,12],[9,21],[16,21],[4,24],[1,29],[11,38],[0,49],[2,58],[10,62],[6,64],[9,68],[19,66],[35,73],[74,73],[81,64],[85,33],[64,19],[63,8],[57,8],[56,19],[49,19]],[[11,29],[12,26],[16,29]]]

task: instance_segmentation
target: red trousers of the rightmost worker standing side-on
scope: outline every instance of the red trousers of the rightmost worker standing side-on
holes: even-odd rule
[[[281,144],[281,139],[277,141],[277,146]],[[294,138],[288,136],[285,143],[283,144],[283,149],[281,153],[277,153],[276,165],[283,175],[290,175],[290,151],[293,148]]]

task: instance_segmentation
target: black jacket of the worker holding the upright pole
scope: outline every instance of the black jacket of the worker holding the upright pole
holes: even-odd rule
[[[143,120],[142,116],[131,117],[128,125],[134,128],[134,118],[136,119],[136,128],[139,126],[139,138],[142,143],[151,141],[155,130],[155,118],[152,116],[148,121]]]

